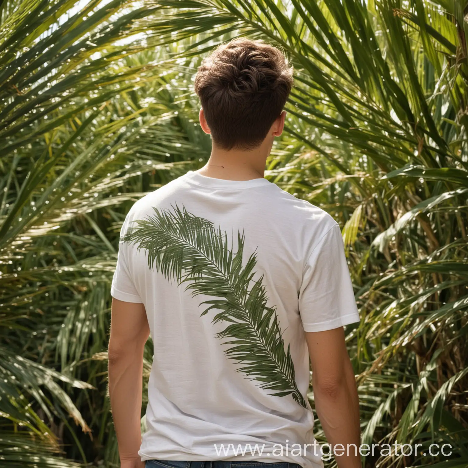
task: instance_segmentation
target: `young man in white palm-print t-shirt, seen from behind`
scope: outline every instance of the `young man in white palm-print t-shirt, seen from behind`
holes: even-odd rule
[[[309,355],[315,409],[338,466],[360,467],[343,330],[359,316],[340,228],[263,178],[292,82],[278,49],[246,39],[220,46],[195,80],[209,161],[140,199],[124,221],[109,342],[122,468],[322,467]]]

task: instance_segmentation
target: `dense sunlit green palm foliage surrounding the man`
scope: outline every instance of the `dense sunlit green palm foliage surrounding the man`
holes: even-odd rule
[[[118,466],[106,344],[119,229],[135,200],[205,163],[194,73],[248,36],[295,67],[266,177],[343,228],[363,442],[422,444],[364,464],[466,467],[467,12],[463,0],[1,0],[1,466]],[[146,376],[151,355],[149,343]],[[429,456],[432,442],[452,455]]]

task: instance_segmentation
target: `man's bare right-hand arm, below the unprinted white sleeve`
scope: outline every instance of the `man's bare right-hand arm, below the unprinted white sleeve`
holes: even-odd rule
[[[351,361],[346,350],[343,327],[306,332],[312,364],[312,388],[315,409],[332,449],[337,449],[338,468],[360,468],[359,399]],[[344,446],[344,452],[341,446]]]

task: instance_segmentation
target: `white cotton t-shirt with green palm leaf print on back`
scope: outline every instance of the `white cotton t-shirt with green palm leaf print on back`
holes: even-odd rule
[[[323,466],[305,446],[304,330],[359,321],[328,213],[266,179],[190,171],[133,205],[111,294],[145,305],[154,343],[142,460]]]

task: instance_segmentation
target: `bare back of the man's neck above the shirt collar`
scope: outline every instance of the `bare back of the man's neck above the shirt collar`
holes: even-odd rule
[[[250,151],[223,150],[213,146],[210,159],[196,172],[206,177],[225,180],[263,178],[271,147],[262,144]]]

